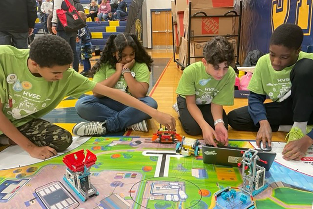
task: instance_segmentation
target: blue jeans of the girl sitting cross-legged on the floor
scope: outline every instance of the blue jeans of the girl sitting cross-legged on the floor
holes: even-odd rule
[[[139,98],[140,101],[157,109],[157,103],[151,97]],[[125,130],[130,125],[150,119],[146,113],[128,107],[108,97],[97,98],[93,95],[78,99],[75,105],[78,115],[89,121],[106,121],[109,132]]]

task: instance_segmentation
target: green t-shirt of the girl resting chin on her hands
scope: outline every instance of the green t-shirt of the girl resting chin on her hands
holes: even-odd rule
[[[116,69],[113,68],[110,64],[102,64],[99,68],[99,71],[96,72],[94,76],[94,81],[99,83],[105,79],[108,79],[111,75],[116,72]],[[132,75],[135,76],[136,81],[145,82],[149,84],[150,72],[148,66],[145,63],[135,62],[132,69]],[[117,83],[114,86],[114,89],[119,89],[130,94],[127,88],[127,83],[123,75],[118,79]]]

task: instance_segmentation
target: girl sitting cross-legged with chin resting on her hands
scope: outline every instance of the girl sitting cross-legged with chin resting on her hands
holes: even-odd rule
[[[95,82],[131,94],[156,109],[156,101],[146,96],[152,62],[136,35],[112,34],[90,74],[93,75]],[[125,129],[148,131],[146,119],[151,118],[139,110],[95,93],[79,99],[75,108],[83,119],[103,122],[102,126],[105,127],[106,132]],[[93,122],[77,124],[73,133],[85,135],[85,133],[78,133],[82,128],[80,126],[92,126],[92,124]]]

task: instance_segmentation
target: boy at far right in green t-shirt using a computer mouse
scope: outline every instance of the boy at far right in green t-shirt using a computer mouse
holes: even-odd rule
[[[249,106],[231,111],[229,125],[258,131],[256,143],[271,146],[272,131],[289,132],[285,160],[300,160],[313,143],[313,54],[301,52],[302,29],[282,24],[272,34],[269,54],[258,60],[248,89]],[[264,104],[266,95],[273,101]],[[307,134],[307,135],[305,135]]]

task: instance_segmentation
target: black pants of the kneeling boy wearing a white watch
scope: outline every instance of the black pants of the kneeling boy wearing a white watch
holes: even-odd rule
[[[186,99],[182,98],[178,95],[177,97],[177,105],[179,110],[179,120],[182,124],[182,128],[185,132],[189,135],[201,135],[202,130],[198,123],[193,119],[187,109]],[[198,108],[201,110],[203,118],[207,123],[214,129],[214,119],[211,113],[211,104],[208,105],[197,105]],[[223,110],[223,120],[225,123],[226,129],[228,129],[228,120],[225,110]]]

